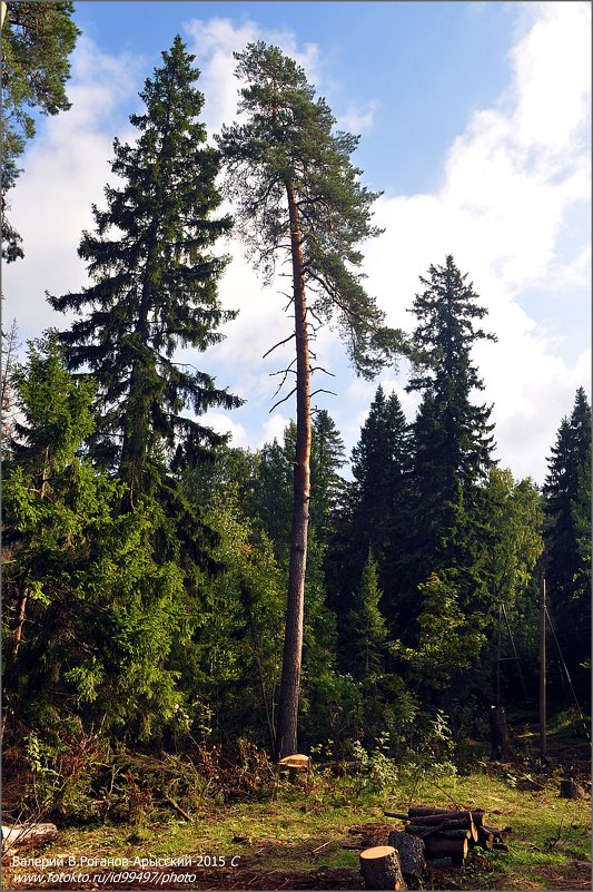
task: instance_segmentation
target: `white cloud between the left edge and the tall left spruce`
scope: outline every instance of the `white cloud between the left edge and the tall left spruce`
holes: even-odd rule
[[[22,337],[65,323],[46,302],[46,288],[59,295],[87,282],[77,247],[82,229],[92,228],[92,203],[100,205],[105,184],[115,183],[108,164],[112,121],[122,105],[129,111],[138,101],[140,65],[129,55],[102,53],[80,37],[68,87],[72,107],[42,121],[24,156],[23,173],[9,197],[26,256],[3,271],[6,315],[17,316]],[[129,133],[123,122],[119,129],[123,138]]]

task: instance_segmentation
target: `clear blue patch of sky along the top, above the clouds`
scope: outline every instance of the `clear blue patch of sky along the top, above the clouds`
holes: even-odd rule
[[[377,102],[357,164],[374,188],[404,193],[437,185],[438,158],[468,114],[498,97],[514,20],[511,4],[480,2],[81,2],[76,10],[101,48],[146,56],[149,65],[196,16],[254,21],[293,31],[302,46],[318,43],[335,114],[364,109],[369,97]]]

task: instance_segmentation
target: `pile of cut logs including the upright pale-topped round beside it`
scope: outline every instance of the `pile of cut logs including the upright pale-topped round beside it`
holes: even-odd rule
[[[385,815],[401,817],[406,825],[403,831],[389,833],[388,845],[362,852],[360,872],[366,889],[405,889],[405,882],[417,888],[426,868],[463,866],[474,846],[508,851],[503,831],[487,824],[483,808],[462,811],[418,805],[407,814],[385,812]]]

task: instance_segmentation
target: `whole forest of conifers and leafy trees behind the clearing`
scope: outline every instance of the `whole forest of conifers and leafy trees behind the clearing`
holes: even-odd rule
[[[53,7],[63,28],[70,4]],[[21,361],[18,331],[4,335],[6,752],[46,773],[90,739],[103,767],[122,751],[334,759],[377,744],[405,761],[438,742],[454,758],[487,739],[492,704],[536,713],[544,579],[548,696],[584,714],[584,389],[559,419],[542,488],[501,468],[473,355],[495,339],[470,272],[435,258],[409,295],[412,334],[387,329],[359,272],[375,195],[350,164],[356,138],[334,133],[278,49],[254,43],[237,60],[244,116],[214,147],[194,57],[180,38],[162,53],[130,116],[137,140],[113,144],[118,185],[81,235],[91,282],[48,295],[73,321],[60,330],[57,315]],[[67,75],[55,72],[49,114],[67,107]],[[283,253],[293,269],[295,422],[255,451],[200,422],[240,400],[176,360],[181,346],[205,354],[234,317],[216,249],[231,228],[263,276]],[[6,234],[18,262],[26,245]],[[329,324],[369,379],[407,357],[419,399],[409,420],[378,386],[349,457],[310,401],[307,339]]]

